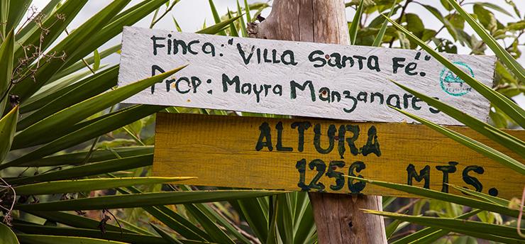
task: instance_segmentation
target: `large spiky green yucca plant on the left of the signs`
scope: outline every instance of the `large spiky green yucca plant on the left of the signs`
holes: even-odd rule
[[[118,104],[183,67],[117,88],[118,65],[101,65],[101,59],[120,46],[100,52],[99,48],[123,26],[150,13],[155,13],[154,26],[177,2],[143,1],[124,9],[130,0],[111,1],[79,27],[67,30],[87,0],[51,0],[38,13],[28,0],[0,1],[1,243],[177,242],[162,231],[165,227],[148,231],[123,219],[115,222],[118,226],[108,223],[116,218],[108,209],[123,208],[142,208],[192,240],[189,243],[223,243],[232,238],[211,221],[216,212],[199,203],[276,193],[133,187],[189,179],[141,177],[153,161],[151,140],[140,135],[143,124],[151,123],[151,115],[158,111],[177,110]],[[236,19],[199,32],[220,33]],[[62,34],[67,36],[59,39]],[[118,194],[90,196],[100,189],[116,189]],[[165,204],[185,204],[199,226]],[[84,212],[89,210],[94,212]],[[87,217],[94,213],[97,220]],[[228,222],[223,225],[235,230]]]

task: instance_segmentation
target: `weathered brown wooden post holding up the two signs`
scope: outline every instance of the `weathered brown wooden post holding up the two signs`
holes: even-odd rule
[[[275,0],[261,23],[248,23],[253,38],[348,45],[343,0]],[[319,243],[387,243],[381,196],[309,193]]]

